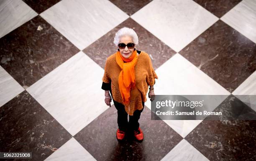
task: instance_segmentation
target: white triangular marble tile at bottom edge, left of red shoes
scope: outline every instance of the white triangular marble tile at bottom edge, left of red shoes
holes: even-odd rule
[[[44,161],[96,161],[73,137]]]

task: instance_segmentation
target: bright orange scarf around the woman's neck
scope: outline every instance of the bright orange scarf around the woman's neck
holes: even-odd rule
[[[130,103],[130,91],[135,87],[134,66],[137,63],[138,54],[137,51],[134,50],[133,54],[126,59],[120,54],[120,51],[117,51],[115,60],[122,69],[118,77],[118,84],[123,103],[127,106]]]

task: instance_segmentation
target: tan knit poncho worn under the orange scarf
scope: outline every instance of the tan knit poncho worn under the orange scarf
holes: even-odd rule
[[[115,61],[115,54],[108,57],[105,64],[105,72],[102,81],[105,83],[111,82],[111,90],[113,99],[116,102],[123,104],[123,99],[120,95],[118,77],[121,68]],[[146,94],[148,92],[148,86],[153,86],[155,79],[158,79],[154,68],[151,63],[151,59],[144,51],[138,55],[137,63],[134,67],[136,87],[130,91],[130,103],[125,107],[125,111],[129,115],[133,115],[135,110],[141,110],[143,108],[142,101],[146,102]]]

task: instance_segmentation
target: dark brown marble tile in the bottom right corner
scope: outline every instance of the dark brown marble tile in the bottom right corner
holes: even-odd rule
[[[210,161],[254,161],[256,159],[256,112],[229,95],[185,139]]]

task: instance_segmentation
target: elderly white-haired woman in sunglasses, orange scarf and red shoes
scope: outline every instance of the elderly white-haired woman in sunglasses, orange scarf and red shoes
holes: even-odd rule
[[[128,129],[133,130],[137,141],[143,141],[143,132],[138,120],[147,100],[148,86],[148,97],[151,101],[154,100],[154,84],[158,77],[148,54],[136,50],[138,36],[133,29],[121,28],[115,33],[114,43],[118,46],[118,51],[108,57],[102,78],[105,103],[111,106],[112,96],[118,110],[118,141],[125,138]]]

